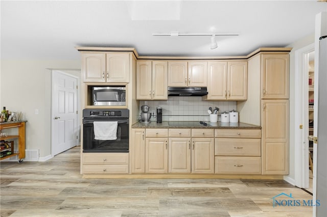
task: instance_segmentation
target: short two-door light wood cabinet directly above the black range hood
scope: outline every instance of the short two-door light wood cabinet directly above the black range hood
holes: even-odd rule
[[[168,61],[169,87],[206,87],[206,61]]]

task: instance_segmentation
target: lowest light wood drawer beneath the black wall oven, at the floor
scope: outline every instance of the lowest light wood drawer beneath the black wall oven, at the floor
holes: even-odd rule
[[[83,165],[83,174],[102,173],[102,174],[122,174],[128,173],[128,165]]]

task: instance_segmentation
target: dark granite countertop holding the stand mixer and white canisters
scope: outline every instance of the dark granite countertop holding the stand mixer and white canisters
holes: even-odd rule
[[[175,121],[174,121],[175,122]],[[180,121],[183,122],[183,121]],[[132,128],[193,128],[193,129],[261,129],[261,126],[256,126],[246,123],[224,123],[224,122],[205,122],[207,126],[171,126],[169,121],[162,121],[162,123],[156,123],[155,121],[151,123],[135,123]]]

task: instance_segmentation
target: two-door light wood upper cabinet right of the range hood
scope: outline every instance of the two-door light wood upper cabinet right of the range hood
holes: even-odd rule
[[[208,95],[204,100],[246,100],[247,61],[208,62]]]

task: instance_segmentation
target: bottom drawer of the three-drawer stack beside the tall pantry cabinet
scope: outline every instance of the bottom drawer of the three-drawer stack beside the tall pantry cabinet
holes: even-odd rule
[[[261,174],[261,157],[215,157],[215,173]]]

